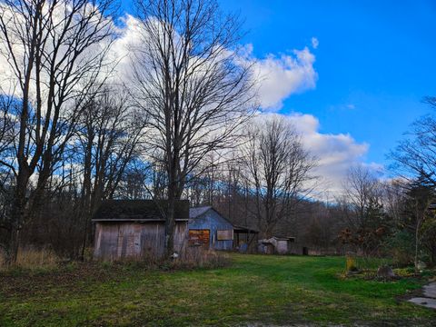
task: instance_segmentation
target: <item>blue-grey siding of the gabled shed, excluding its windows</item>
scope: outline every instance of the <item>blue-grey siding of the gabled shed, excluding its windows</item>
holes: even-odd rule
[[[219,213],[213,209],[208,210],[201,216],[190,220],[188,225],[190,230],[209,230],[210,243],[209,247],[214,250],[232,250],[233,249],[233,224],[225,220]],[[220,238],[224,234],[228,235],[229,240],[219,240],[218,231],[220,232]],[[223,232],[227,231],[227,232]]]

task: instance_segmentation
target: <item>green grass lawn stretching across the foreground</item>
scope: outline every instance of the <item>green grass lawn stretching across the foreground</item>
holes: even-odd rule
[[[230,267],[177,272],[97,263],[0,272],[0,326],[436,325],[401,300],[423,279],[343,279],[342,257],[233,255]]]

